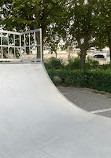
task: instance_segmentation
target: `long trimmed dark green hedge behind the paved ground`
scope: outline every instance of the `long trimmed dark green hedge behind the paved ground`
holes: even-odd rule
[[[52,78],[51,71],[48,71]],[[80,70],[54,71],[54,84],[72,87],[84,87],[84,72]],[[106,91],[111,93],[111,72],[110,71],[86,71],[85,85],[87,88]]]

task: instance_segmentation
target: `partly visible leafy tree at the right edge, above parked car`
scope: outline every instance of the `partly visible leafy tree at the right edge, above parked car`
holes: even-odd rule
[[[111,68],[111,1],[101,0],[97,16],[97,31],[95,32],[95,45],[99,48],[109,47]]]

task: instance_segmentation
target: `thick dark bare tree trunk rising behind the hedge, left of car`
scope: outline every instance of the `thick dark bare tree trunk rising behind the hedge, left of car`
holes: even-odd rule
[[[80,52],[80,69],[84,70],[85,68],[85,59],[86,59],[87,49],[81,49]]]

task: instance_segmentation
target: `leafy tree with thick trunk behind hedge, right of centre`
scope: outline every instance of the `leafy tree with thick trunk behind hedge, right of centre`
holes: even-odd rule
[[[80,68],[84,68],[87,50],[95,31],[95,10],[97,0],[72,0],[69,4],[69,43],[80,48]]]

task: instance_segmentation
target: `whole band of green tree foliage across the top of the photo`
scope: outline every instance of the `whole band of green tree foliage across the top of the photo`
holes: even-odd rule
[[[110,0],[2,0],[0,6],[0,22],[5,29],[41,27],[43,46],[51,52],[57,52],[61,39],[64,48],[80,48],[81,68],[91,46],[108,46],[111,51]]]

